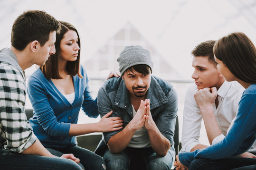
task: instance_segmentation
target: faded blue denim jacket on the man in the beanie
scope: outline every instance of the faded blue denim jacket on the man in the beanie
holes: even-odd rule
[[[110,78],[101,86],[97,97],[98,111],[104,116],[113,110],[111,117],[123,119],[123,128],[133,119],[132,103],[129,100],[129,91],[122,77]],[[174,128],[178,111],[178,97],[173,86],[156,76],[151,77],[151,84],[147,91],[147,99],[150,99],[152,118],[165,136],[174,151]],[[111,136],[123,130],[104,132],[104,142],[107,143]],[[175,154],[175,151],[174,151]]]

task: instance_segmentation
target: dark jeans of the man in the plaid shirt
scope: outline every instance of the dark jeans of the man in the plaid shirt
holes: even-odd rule
[[[0,149],[0,170],[82,170],[74,161],[64,158],[15,153]]]

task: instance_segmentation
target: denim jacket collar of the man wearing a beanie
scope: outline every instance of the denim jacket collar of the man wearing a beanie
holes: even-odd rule
[[[150,110],[153,110],[168,102],[168,99],[165,96],[159,82],[155,79],[154,76],[151,76],[151,84],[147,91],[147,99],[150,99]],[[120,84],[118,86],[114,105],[123,109],[131,107],[129,91],[126,88],[123,79],[120,81]]]

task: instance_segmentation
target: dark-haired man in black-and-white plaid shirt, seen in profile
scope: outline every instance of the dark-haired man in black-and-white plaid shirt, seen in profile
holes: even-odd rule
[[[44,11],[30,10],[14,22],[11,47],[0,50],[0,169],[81,170],[73,154],[56,158],[34,135],[24,111],[24,70],[43,65],[55,53],[59,22]],[[71,161],[73,160],[73,161]]]

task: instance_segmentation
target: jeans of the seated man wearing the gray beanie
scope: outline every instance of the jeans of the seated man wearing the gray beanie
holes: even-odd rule
[[[113,154],[109,150],[104,153],[107,170],[129,170],[129,163],[134,155],[141,155],[146,162],[147,170],[170,170],[173,157],[170,152],[160,157],[152,148],[126,147],[121,153]]]

